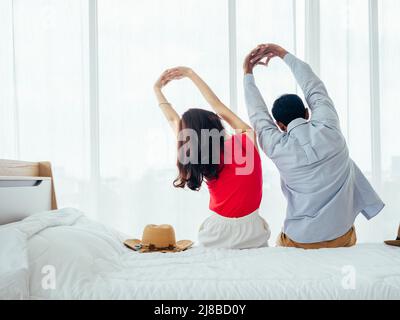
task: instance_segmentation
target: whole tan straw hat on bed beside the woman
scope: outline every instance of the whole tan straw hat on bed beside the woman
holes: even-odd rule
[[[128,239],[124,244],[139,252],[180,252],[190,248],[190,240],[176,241],[174,228],[169,224],[149,224],[143,230],[142,240]]]

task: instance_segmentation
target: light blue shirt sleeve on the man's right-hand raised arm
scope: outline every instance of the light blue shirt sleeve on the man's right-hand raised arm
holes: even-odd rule
[[[339,117],[324,83],[304,61],[288,53],[284,61],[291,69],[312,111],[312,120],[339,125]]]

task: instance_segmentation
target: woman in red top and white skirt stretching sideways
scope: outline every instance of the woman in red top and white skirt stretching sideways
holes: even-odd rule
[[[165,98],[170,81],[190,79],[214,112],[189,109],[182,117]],[[211,216],[200,227],[205,247],[247,249],[268,246],[270,229],[259,215],[262,168],[254,131],[225,106],[190,68],[166,70],[154,85],[159,106],[177,136],[177,188],[210,193]],[[228,135],[223,119],[236,134]]]

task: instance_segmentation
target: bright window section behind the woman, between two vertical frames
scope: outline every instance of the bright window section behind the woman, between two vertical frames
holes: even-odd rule
[[[99,1],[103,221],[138,234],[150,219],[193,237],[207,217],[207,190],[172,187],[176,142],[153,83],[165,69],[187,65],[229,103],[227,9],[213,0]],[[206,107],[189,80],[171,83],[166,96],[179,113]]]

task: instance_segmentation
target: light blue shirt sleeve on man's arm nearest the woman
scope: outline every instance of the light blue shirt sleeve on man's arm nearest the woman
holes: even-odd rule
[[[260,147],[268,157],[272,157],[282,133],[275,125],[252,74],[244,77],[244,93],[250,123],[257,133]]]

